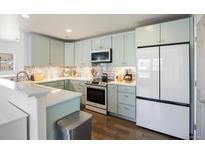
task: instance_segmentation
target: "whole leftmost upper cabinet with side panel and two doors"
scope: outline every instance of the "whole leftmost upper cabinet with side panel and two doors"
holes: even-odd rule
[[[28,44],[29,66],[65,64],[65,44],[63,41],[30,34]]]

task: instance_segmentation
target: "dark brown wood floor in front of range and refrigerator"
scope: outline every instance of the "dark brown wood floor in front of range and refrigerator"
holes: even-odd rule
[[[176,138],[136,126],[134,122],[82,109],[93,115],[93,140],[173,140]]]

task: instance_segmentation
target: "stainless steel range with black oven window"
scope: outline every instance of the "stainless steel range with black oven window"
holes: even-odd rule
[[[107,82],[95,79],[86,83],[85,108],[107,114]]]

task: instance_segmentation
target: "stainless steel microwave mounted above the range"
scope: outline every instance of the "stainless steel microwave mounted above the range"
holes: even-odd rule
[[[112,49],[91,51],[90,59],[92,63],[111,63],[112,62]]]

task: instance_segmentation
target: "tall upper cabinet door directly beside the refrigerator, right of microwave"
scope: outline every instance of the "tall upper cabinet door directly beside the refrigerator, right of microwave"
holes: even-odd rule
[[[136,66],[135,31],[124,33],[124,63],[123,66]]]

